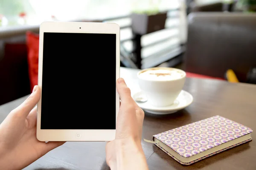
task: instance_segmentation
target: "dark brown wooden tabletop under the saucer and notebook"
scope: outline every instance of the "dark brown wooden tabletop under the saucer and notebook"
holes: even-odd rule
[[[137,69],[120,68],[120,75],[131,88],[139,91]],[[169,115],[145,113],[143,138],[192,122],[220,115],[256,130],[256,85],[229,83],[222,80],[187,78],[183,90],[194,101],[187,108]],[[0,123],[26,99],[0,106]],[[254,138],[252,133],[252,139]],[[256,142],[241,144],[191,165],[181,165],[154,144],[142,141],[150,170],[255,170]],[[15,158],[14,158],[15,159]],[[105,161],[105,142],[66,142],[50,151],[24,170],[109,170]]]

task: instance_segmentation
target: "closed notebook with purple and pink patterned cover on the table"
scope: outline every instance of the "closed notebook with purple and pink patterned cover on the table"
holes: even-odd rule
[[[180,164],[189,165],[251,141],[252,132],[218,115],[153,135],[153,141]]]

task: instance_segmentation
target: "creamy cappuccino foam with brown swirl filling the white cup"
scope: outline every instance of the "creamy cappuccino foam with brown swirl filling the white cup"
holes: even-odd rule
[[[182,71],[175,69],[150,69],[140,73],[140,77],[147,80],[168,81],[184,77]]]

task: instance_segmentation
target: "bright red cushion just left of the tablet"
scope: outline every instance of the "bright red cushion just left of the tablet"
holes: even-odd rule
[[[30,91],[32,92],[34,86],[38,85],[39,34],[27,32],[26,45],[28,48]]]

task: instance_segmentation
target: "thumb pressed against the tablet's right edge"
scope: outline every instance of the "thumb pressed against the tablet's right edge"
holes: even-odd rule
[[[116,81],[116,90],[120,96],[121,102],[124,105],[133,102],[133,99],[131,97],[131,90],[127,87],[125,80],[123,78],[119,78]]]

